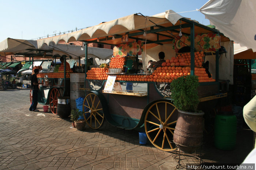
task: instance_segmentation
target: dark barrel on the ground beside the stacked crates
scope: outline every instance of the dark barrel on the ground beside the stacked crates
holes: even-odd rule
[[[60,118],[68,118],[68,116],[71,113],[71,107],[70,107],[70,97],[58,97],[58,104],[57,104],[57,115],[60,116]]]

